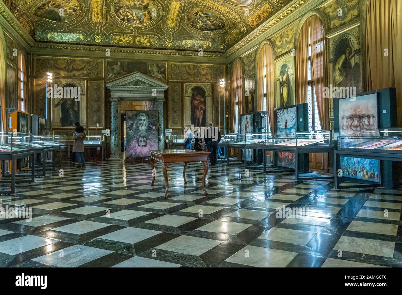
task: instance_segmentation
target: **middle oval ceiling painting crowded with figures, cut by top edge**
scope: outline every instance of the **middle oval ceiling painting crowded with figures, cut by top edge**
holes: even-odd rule
[[[158,16],[152,0],[117,0],[113,10],[119,20],[133,26],[146,25]]]

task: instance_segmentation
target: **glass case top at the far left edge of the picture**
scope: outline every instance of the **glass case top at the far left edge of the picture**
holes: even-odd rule
[[[31,150],[31,135],[20,132],[0,132],[0,153],[10,154]]]

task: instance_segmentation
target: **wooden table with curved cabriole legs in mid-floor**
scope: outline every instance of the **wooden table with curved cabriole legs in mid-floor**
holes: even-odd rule
[[[165,178],[166,191],[165,191],[165,199],[168,197],[168,189],[169,189],[169,180],[167,169],[170,163],[184,163],[183,169],[183,178],[184,184],[187,184],[186,181],[186,168],[187,163],[189,162],[202,162],[204,165],[204,173],[202,175],[202,188],[204,190],[204,196],[208,195],[207,190],[205,189],[205,177],[208,173],[208,156],[210,152],[199,152],[195,150],[150,150],[151,152],[151,168],[152,168],[152,182],[151,185],[154,185],[155,181],[155,168],[154,162],[159,161],[162,162],[162,171],[163,176]]]

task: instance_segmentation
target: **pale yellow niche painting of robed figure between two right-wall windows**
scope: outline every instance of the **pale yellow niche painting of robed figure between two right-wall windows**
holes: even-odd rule
[[[295,100],[295,66],[293,55],[275,61],[276,69],[276,108],[288,107]]]

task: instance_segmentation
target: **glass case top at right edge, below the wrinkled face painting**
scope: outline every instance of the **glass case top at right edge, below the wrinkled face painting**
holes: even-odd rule
[[[360,132],[359,136],[339,136],[338,150],[359,152],[402,153],[402,129],[381,128]]]

